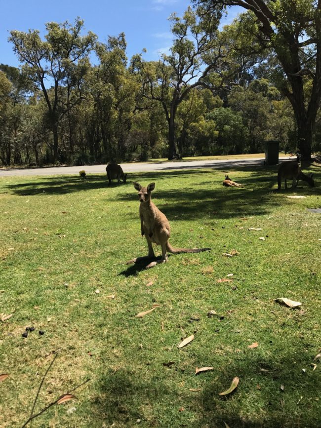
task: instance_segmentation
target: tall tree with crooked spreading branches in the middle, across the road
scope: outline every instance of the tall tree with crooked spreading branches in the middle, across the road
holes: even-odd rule
[[[168,159],[178,153],[175,141],[175,118],[178,106],[196,87],[218,88],[230,76],[224,63],[226,45],[220,37],[215,14],[200,19],[190,7],[182,18],[170,16],[173,45],[159,61],[147,62],[142,54],[131,60],[132,72],[141,78],[142,96],[161,103],[168,124]]]

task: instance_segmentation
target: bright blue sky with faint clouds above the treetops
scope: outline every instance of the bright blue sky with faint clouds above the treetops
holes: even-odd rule
[[[77,16],[84,20],[85,32],[97,34],[100,41],[125,33],[128,59],[147,49],[144,58],[158,59],[171,45],[170,23],[172,12],[182,15],[189,0],[0,0],[0,63],[18,67],[19,62],[7,38],[10,30],[40,30],[49,21],[74,22]],[[236,16],[231,10],[228,23]]]

